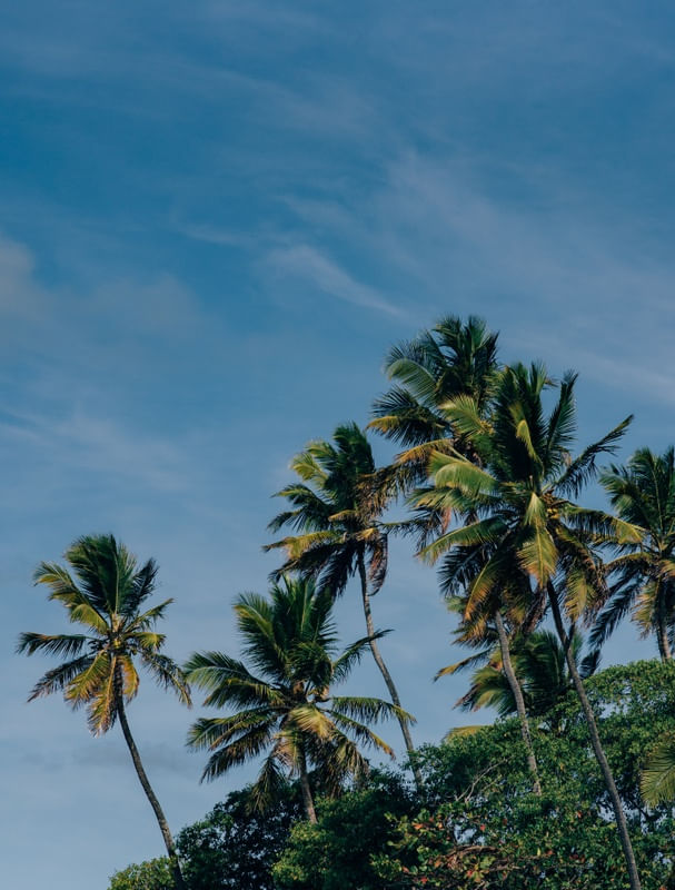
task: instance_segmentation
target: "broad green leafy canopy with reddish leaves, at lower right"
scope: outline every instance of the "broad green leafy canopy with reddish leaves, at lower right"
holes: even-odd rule
[[[628,817],[645,890],[671,886],[675,823],[639,794],[646,752],[675,730],[675,668],[617,666],[587,681]],[[557,730],[548,728],[555,725]],[[530,793],[517,723],[499,721],[420,753],[427,805],[375,858],[387,888],[623,890],[611,801],[574,696],[534,734],[543,797]]]

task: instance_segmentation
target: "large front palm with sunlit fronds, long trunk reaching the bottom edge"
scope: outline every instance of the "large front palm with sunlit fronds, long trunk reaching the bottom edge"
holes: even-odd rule
[[[598,456],[615,448],[631,418],[574,458],[569,448],[576,431],[575,380],[576,375],[567,374],[555,387],[557,399],[548,414],[543,392],[553,383],[540,365],[506,368],[487,416],[468,397],[448,406],[480,461],[436,453],[430,463],[435,497],[445,495],[448,508],[456,501],[473,500],[476,518],[440,535],[424,554],[434,561],[450,548],[479,545],[484,551],[468,591],[469,619],[480,604],[500,595],[514,565],[532,577],[535,595],[546,596],[612,800],[631,887],[638,890],[626,818],[570,646],[575,623],[605,596],[603,566],[590,546],[594,535],[635,540],[628,523],[584,510],[573,498],[596,472]],[[572,624],[569,632],[563,613]]]

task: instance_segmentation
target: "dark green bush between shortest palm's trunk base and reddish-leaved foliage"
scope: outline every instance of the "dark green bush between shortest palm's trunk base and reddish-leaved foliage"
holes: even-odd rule
[[[395,837],[396,821],[413,812],[414,799],[394,775],[377,773],[368,788],[322,800],[318,824],[298,822],[274,868],[279,888],[379,890],[371,860]]]

